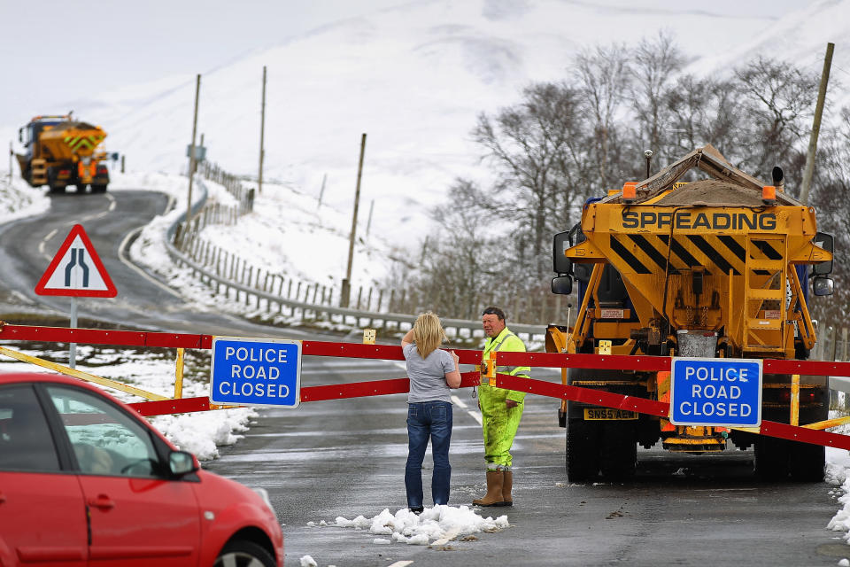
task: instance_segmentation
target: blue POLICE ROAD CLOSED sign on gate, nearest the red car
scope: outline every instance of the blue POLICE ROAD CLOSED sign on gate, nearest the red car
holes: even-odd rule
[[[297,408],[301,401],[301,342],[213,338],[210,401]]]

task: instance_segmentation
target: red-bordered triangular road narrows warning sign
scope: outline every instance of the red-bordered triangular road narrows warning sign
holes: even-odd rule
[[[118,295],[81,224],[73,225],[42,279],[35,285],[35,293],[88,298]]]

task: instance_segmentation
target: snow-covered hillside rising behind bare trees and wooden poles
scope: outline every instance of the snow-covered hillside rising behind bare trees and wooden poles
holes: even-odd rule
[[[374,199],[373,231],[413,243],[426,229],[424,209],[443,198],[452,179],[487,175],[469,139],[476,114],[514,104],[529,82],[568,76],[577,50],[636,43],[665,29],[692,56],[692,71],[733,65],[755,51],[819,70],[825,43],[850,26],[850,0],[801,4],[778,21],[769,13],[735,17],[670,4],[399,3],[206,72],[198,131],[209,159],[256,175],[267,66],[267,179],[318,196],[327,174],[325,201],[350,210],[366,132],[360,210]],[[836,66],[847,57],[839,43]],[[73,108],[107,129],[108,149],[126,154],[131,170],[175,173],[186,167],[194,89],[194,76],[164,77]],[[13,129],[0,128],[0,136]]]

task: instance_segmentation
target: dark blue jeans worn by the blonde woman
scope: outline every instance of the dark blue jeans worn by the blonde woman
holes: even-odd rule
[[[422,504],[422,461],[428,438],[434,454],[434,472],[431,475],[431,497],[435,504],[449,503],[449,482],[452,467],[449,465],[449,443],[452,440],[452,404],[447,401],[420,401],[407,405],[407,464],[405,487],[407,507]]]

